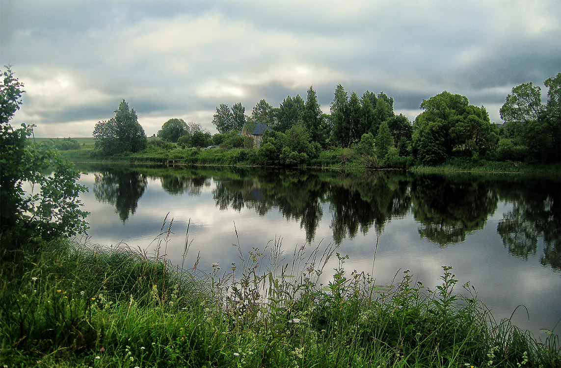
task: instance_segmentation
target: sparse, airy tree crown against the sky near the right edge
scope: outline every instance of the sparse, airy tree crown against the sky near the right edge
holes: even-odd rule
[[[540,87],[530,82],[514,87],[499,113],[505,122],[530,122],[537,120],[541,111]]]

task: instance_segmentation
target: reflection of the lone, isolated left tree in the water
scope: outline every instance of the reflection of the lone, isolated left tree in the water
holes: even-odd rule
[[[146,176],[136,171],[104,171],[95,174],[94,196],[100,202],[114,205],[124,223],[135,213],[146,184]]]

